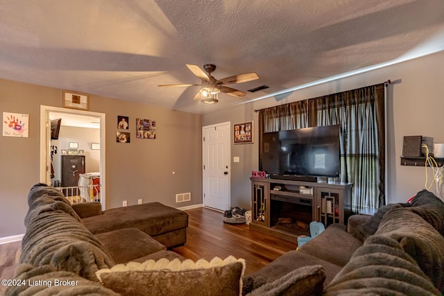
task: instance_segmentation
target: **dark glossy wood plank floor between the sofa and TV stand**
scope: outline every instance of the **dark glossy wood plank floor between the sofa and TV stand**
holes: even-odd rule
[[[187,243],[172,249],[185,258],[210,261],[215,256],[225,259],[232,255],[245,259],[248,275],[296,249],[296,244],[250,230],[246,224],[223,223],[223,214],[219,211],[197,208],[186,212],[189,214]],[[13,278],[20,246],[21,242],[0,245],[0,279]],[[0,295],[3,295],[1,286]]]

